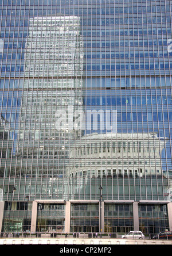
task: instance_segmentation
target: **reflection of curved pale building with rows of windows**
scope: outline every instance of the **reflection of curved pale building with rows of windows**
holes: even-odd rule
[[[70,177],[143,177],[161,175],[165,140],[153,133],[83,136],[70,152]]]

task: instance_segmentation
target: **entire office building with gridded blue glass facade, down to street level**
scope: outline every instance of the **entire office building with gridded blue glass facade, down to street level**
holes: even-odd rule
[[[2,231],[170,229],[171,0],[0,3]]]

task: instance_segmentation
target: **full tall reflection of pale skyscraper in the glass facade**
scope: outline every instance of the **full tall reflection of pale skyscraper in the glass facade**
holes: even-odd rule
[[[82,81],[77,76],[82,72],[82,57],[79,18],[30,20],[19,155],[28,161],[33,158],[35,163],[24,168],[23,175],[52,178],[65,174],[69,141],[77,136],[69,129],[68,119],[71,107],[77,108],[81,98]],[[67,114],[65,125],[58,129],[58,119],[64,113]],[[57,198],[57,191],[47,196]]]

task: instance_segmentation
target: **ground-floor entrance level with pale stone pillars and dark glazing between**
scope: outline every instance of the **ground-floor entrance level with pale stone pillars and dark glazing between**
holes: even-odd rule
[[[157,234],[172,228],[171,202],[71,200],[1,202],[1,232]]]

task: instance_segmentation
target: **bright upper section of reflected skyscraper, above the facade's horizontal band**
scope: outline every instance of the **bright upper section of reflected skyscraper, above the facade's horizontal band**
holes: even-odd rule
[[[75,16],[36,17],[30,20],[25,77],[81,75],[83,52],[79,25],[80,19]],[[40,88],[41,85],[37,86]],[[54,87],[57,88],[57,85]]]

